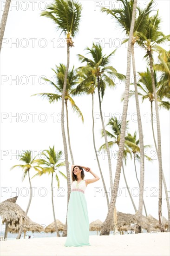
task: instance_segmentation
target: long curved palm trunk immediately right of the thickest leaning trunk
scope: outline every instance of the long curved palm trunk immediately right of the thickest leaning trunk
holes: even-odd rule
[[[132,66],[133,66],[133,77],[135,85],[135,100],[137,108],[137,125],[139,131],[139,144],[140,144],[140,185],[139,185],[139,206],[137,211],[137,228],[135,234],[142,232],[142,210],[143,210],[143,198],[144,198],[144,137],[142,129],[142,120],[140,115],[139,108],[139,99],[137,92],[137,77],[136,77],[136,66],[135,66],[135,53],[134,53],[134,44],[131,44],[131,57],[132,57]]]

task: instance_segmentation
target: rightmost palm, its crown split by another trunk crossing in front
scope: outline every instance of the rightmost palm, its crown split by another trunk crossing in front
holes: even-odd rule
[[[154,99],[154,94],[153,94],[152,78],[151,78],[150,70],[149,70],[149,68],[147,68],[147,71],[138,72],[138,74],[140,77],[139,82],[137,84],[137,86],[139,88],[138,94],[142,97],[142,102],[144,102],[145,99],[148,99],[150,101],[152,134],[153,134],[155,148],[157,151],[157,142],[156,142],[154,126],[153,126],[153,102],[155,101],[155,99]],[[160,81],[158,81],[157,72],[154,70],[154,81],[155,81],[155,87],[157,90],[157,101],[159,104],[158,106],[159,106],[159,108],[165,108],[165,109],[169,110],[170,102],[166,100],[166,96],[167,96],[167,94],[165,94],[166,88],[164,91],[164,89],[163,89],[164,83],[162,82],[162,78],[163,78],[163,76],[161,76]],[[134,95],[134,91],[131,91],[130,96],[133,96],[133,95]],[[166,181],[164,178],[163,170],[162,170],[162,178],[163,178],[163,186],[164,186],[165,195],[166,195],[169,229],[170,229],[170,202],[169,202],[169,198],[168,198],[168,189],[166,186]]]

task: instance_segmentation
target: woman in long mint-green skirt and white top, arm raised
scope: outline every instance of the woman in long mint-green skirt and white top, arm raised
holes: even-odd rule
[[[86,172],[91,173],[94,178],[84,180]],[[89,217],[85,199],[85,189],[88,184],[97,182],[98,175],[94,174],[91,168],[79,165],[72,165],[72,185],[67,211],[67,239],[65,246],[85,246],[89,243]]]

